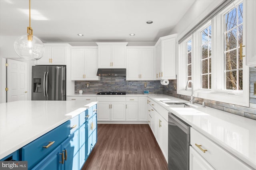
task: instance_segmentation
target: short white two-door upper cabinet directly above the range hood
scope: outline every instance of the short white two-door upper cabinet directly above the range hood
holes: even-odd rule
[[[126,68],[127,43],[97,43],[98,68]]]

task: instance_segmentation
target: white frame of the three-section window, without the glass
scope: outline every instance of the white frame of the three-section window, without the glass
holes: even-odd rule
[[[191,95],[191,89],[185,90],[186,87],[186,73],[184,74],[184,51],[186,48],[186,42],[192,38],[192,81],[194,83],[194,96],[198,98],[204,98],[208,100],[214,100],[218,102],[225,102],[230,104],[236,104],[240,106],[249,107],[249,67],[246,66],[244,59],[243,62],[243,90],[226,90],[224,89],[225,77],[224,77],[224,16],[227,12],[234,8],[234,5],[238,5],[242,0],[236,0],[233,4],[228,6],[225,10],[220,12],[212,20],[208,21],[198,31],[193,33],[190,37],[184,40],[178,45],[178,79],[177,79],[177,94],[186,96]],[[243,6],[243,12],[244,12]],[[245,25],[243,19],[243,25]],[[211,25],[212,29],[212,55],[211,55],[211,89],[201,88],[201,31],[207,26]],[[221,28],[221,29],[220,29]],[[244,29],[243,29],[244,31]],[[243,33],[243,35],[246,35]],[[243,37],[243,45],[245,45],[245,37]],[[184,45],[185,44],[185,45]],[[220,67],[222,63],[222,67]],[[197,68],[197,69],[196,69]],[[200,68],[200,69],[198,69]]]

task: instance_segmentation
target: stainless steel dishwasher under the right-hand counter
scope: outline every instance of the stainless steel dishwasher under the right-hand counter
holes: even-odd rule
[[[190,125],[173,113],[168,115],[168,169],[189,169]]]

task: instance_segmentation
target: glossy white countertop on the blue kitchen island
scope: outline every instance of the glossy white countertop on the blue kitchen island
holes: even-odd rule
[[[94,104],[96,102],[79,101],[16,101],[0,104],[0,159]]]

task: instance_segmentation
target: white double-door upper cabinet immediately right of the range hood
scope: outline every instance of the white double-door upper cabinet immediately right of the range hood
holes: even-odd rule
[[[126,56],[126,80],[154,80],[154,47],[129,47]]]

